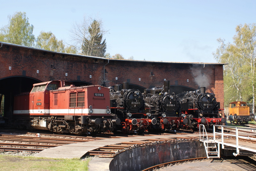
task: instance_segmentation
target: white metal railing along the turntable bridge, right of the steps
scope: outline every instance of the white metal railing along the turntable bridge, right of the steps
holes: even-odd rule
[[[219,127],[221,127],[221,132],[217,132],[217,131],[220,130]],[[236,129],[236,134],[224,132],[224,128]],[[225,149],[225,146],[231,146],[231,147],[236,148],[236,153],[233,153],[233,155],[235,155],[235,156],[237,156],[237,155],[246,155],[246,154],[240,153],[240,150],[246,150],[246,151],[249,151],[249,152],[256,153],[255,148],[252,148],[252,147],[250,148],[250,147],[246,147],[244,145],[240,145],[242,143],[242,141],[241,140],[239,141],[239,139],[246,139],[246,140],[256,141],[256,138],[249,137],[249,136],[247,136],[247,137],[242,136],[241,133],[239,132],[239,130],[253,130],[253,131],[256,131],[255,128],[213,125],[213,141],[215,143],[220,143],[222,145],[221,146],[222,149]],[[221,141],[217,140],[216,136],[218,136],[218,135],[221,135]],[[226,143],[225,140],[224,140],[224,136],[236,139],[235,145],[232,144],[232,143]]]

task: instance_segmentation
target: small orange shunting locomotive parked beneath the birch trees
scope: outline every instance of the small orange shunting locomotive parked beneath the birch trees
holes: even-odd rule
[[[234,116],[234,122],[236,123],[248,123],[253,121],[252,115],[250,114],[250,107],[246,105],[244,101],[234,101],[229,103],[228,106],[229,115]]]

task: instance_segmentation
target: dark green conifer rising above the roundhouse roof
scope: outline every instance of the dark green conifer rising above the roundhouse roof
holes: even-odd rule
[[[88,32],[90,36],[84,40],[82,46],[83,55],[105,57],[106,39],[102,41],[103,34],[100,31],[100,22],[93,20],[88,28]]]

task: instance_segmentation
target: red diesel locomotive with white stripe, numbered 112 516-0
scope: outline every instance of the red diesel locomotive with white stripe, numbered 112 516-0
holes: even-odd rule
[[[76,135],[113,131],[120,119],[110,113],[109,89],[100,85],[76,87],[71,82],[33,85],[14,99],[14,125]]]

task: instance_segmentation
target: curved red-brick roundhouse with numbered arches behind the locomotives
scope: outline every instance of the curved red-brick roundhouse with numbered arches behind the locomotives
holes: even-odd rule
[[[106,87],[129,82],[129,88],[162,87],[170,80],[175,93],[206,87],[223,108],[223,65],[225,63],[174,63],[117,60],[52,52],[0,42],[0,94],[4,114],[13,110],[13,96],[31,90],[33,84],[65,80],[79,85]],[[0,101],[1,102],[1,101]]]

